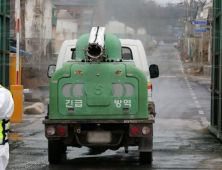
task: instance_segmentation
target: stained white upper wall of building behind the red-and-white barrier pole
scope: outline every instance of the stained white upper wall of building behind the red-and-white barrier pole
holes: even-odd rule
[[[47,54],[52,40],[52,0],[26,0],[25,4],[26,51],[40,60]],[[42,56],[43,55],[43,56]],[[51,55],[47,55],[49,58]]]

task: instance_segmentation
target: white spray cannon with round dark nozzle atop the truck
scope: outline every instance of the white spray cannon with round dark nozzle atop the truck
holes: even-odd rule
[[[93,27],[89,37],[88,46],[83,49],[88,60],[96,60],[106,58],[105,55],[105,28]]]

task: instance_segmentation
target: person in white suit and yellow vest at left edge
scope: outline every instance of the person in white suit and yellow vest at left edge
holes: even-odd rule
[[[5,170],[9,161],[8,134],[13,111],[12,93],[0,85],[0,170]]]

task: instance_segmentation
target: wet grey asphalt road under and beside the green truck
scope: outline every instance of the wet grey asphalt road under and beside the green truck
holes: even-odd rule
[[[92,153],[88,148],[71,148],[61,165],[49,165],[42,118],[27,126],[13,126],[8,170],[91,169],[219,169],[222,143],[207,126],[210,120],[210,92],[183,73],[179,54],[172,45],[158,47],[148,58],[157,64],[160,77],[152,80],[156,104],[153,164],[140,165],[136,147]],[[20,136],[21,135],[21,136]]]

